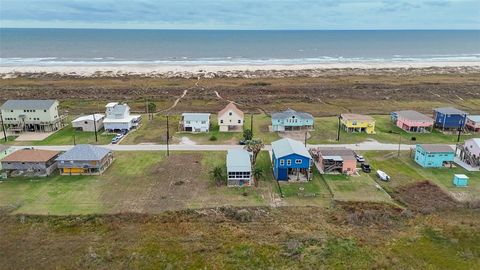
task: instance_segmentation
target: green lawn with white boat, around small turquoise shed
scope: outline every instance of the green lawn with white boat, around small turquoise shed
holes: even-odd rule
[[[423,168],[411,158],[409,152],[402,152],[400,158],[397,158],[395,153],[389,152],[367,152],[365,156],[373,170],[383,170],[392,178],[389,182],[379,181],[387,190],[428,180],[459,201],[480,200],[480,173],[478,172],[467,172],[461,167]],[[458,188],[453,185],[453,175],[458,173],[470,177],[468,187]]]

